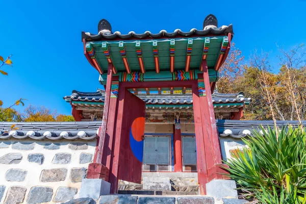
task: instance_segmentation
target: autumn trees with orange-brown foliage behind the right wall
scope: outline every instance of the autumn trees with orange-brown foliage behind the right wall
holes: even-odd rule
[[[305,47],[301,44],[289,50],[278,49],[278,58],[270,59],[265,52],[253,52],[244,62],[241,52],[234,47],[220,70],[219,92],[242,91],[245,97],[252,98],[244,108],[244,120],[306,119]]]

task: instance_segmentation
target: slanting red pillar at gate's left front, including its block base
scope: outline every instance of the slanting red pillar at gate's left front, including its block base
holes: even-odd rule
[[[109,168],[107,168],[104,164],[102,164],[103,153],[106,147],[106,139],[107,137],[107,123],[109,119],[109,105],[110,105],[110,97],[111,97],[111,86],[112,86],[112,69],[113,64],[109,63],[108,65],[108,75],[105,89],[105,100],[104,100],[104,111],[103,111],[103,119],[101,127],[98,131],[98,142],[97,148],[95,152],[95,158],[93,163],[89,164],[87,171],[87,179],[104,179],[106,181],[109,180]]]

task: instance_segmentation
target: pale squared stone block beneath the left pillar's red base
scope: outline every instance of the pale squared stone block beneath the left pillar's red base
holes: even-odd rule
[[[111,184],[102,179],[83,179],[80,189],[80,197],[98,199],[101,195],[109,194]]]

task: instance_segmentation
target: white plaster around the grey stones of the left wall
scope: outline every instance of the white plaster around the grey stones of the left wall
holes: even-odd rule
[[[60,140],[60,141],[50,141],[50,140],[43,140],[43,141],[37,141],[37,140],[0,140],[0,142],[11,142],[9,148],[0,148],[0,157],[8,154],[8,153],[20,153],[22,155],[22,160],[19,164],[0,164],[0,185],[5,185],[5,193],[0,200],[0,203],[3,203],[7,194],[7,191],[10,186],[21,186],[27,188],[27,192],[25,193],[25,198],[23,200],[23,203],[27,202],[28,194],[33,186],[46,186],[46,187],[51,187],[53,188],[53,196],[56,195],[57,188],[60,186],[64,187],[75,187],[78,188],[78,193],[74,196],[74,198],[79,197],[80,193],[80,187],[81,187],[81,182],[80,183],[72,183],[70,181],[70,169],[71,168],[77,168],[77,167],[85,167],[88,168],[88,164],[80,164],[79,159],[80,159],[80,154],[82,152],[86,152],[88,154],[93,154],[94,156],[94,151],[95,151],[95,146],[96,146],[96,140],[93,141],[84,141],[84,140],[73,140],[73,141],[65,141],[65,140]],[[12,144],[14,142],[27,142],[31,143],[34,142],[35,148],[33,150],[17,150],[17,149],[12,149]],[[81,150],[72,150],[68,148],[68,145],[70,143],[74,142],[81,142],[81,143],[87,143],[88,148],[87,149],[81,149]],[[59,149],[54,149],[54,150],[49,150],[43,148],[45,144],[47,143],[60,143],[60,148]],[[52,160],[54,156],[57,153],[69,153],[71,154],[71,162],[69,164],[52,164]],[[33,154],[33,153],[39,153],[44,155],[44,162],[42,165],[38,165],[37,163],[34,162],[29,162],[28,161],[28,155]],[[93,157],[92,157],[93,158]],[[67,171],[67,176],[65,181],[61,182],[40,182],[40,175],[43,169],[54,169],[54,168],[66,168]],[[25,177],[25,180],[23,182],[9,182],[6,181],[5,179],[5,174],[7,170],[9,169],[24,169],[27,170],[27,176]],[[54,203],[54,202],[46,202],[46,203]]]

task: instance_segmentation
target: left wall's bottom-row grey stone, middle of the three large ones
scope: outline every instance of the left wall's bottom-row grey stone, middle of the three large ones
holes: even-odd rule
[[[44,203],[52,200],[53,189],[45,186],[34,186],[28,195],[28,204]]]

